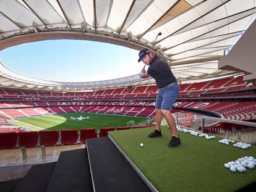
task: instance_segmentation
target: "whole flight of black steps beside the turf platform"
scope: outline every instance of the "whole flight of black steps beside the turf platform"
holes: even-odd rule
[[[0,191],[151,191],[108,137],[88,139],[87,148],[61,152],[57,162],[33,165],[12,183],[9,189],[14,190],[0,185]]]

